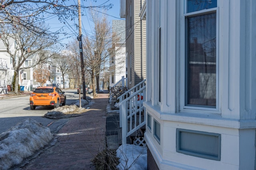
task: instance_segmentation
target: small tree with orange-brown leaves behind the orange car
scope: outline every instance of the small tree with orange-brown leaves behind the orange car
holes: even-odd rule
[[[36,82],[40,83],[40,86],[43,86],[44,83],[48,80],[50,76],[50,71],[46,68],[45,63],[38,64],[33,70],[33,78]]]

